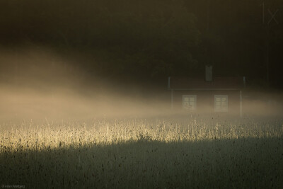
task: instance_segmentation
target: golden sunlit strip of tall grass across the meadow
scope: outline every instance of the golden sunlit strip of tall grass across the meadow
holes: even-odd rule
[[[248,119],[247,119],[248,120]],[[187,121],[187,122],[185,122]],[[122,142],[198,142],[214,139],[241,139],[282,137],[283,124],[241,120],[238,122],[212,122],[183,118],[183,120],[100,120],[91,125],[86,123],[63,123],[42,125],[24,123],[11,130],[1,132],[1,147],[12,151],[44,150],[63,147],[92,147],[97,144],[118,144]],[[3,150],[3,148],[2,148]]]

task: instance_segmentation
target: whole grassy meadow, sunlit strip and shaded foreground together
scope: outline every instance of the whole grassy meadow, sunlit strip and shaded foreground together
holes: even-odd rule
[[[283,188],[282,118],[45,120],[0,130],[2,188]]]

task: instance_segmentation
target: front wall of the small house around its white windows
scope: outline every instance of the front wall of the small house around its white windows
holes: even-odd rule
[[[228,113],[240,114],[240,91],[174,91],[173,110],[183,110],[183,95],[197,95],[195,113],[215,113],[214,95],[228,95]],[[220,114],[227,113],[220,112]]]

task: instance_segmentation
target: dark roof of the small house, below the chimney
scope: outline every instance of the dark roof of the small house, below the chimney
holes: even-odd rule
[[[169,77],[168,88],[174,90],[238,90],[244,87],[245,77],[214,77],[212,81],[202,78]]]

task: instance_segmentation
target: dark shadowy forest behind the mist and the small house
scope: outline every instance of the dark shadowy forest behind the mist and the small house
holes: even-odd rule
[[[283,1],[2,0],[0,46],[45,45],[87,57],[88,76],[246,76],[283,88]]]

